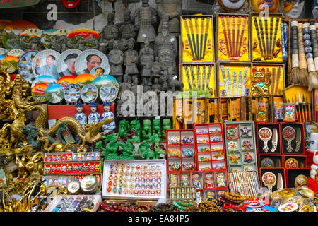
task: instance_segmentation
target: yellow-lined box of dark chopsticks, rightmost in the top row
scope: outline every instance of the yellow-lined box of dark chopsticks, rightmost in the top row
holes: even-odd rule
[[[281,16],[281,13],[252,14],[252,61],[283,62],[283,40],[286,38],[287,42],[287,35],[283,36]]]

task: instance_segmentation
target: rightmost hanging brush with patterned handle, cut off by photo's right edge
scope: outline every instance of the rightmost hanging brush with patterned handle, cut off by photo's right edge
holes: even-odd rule
[[[302,28],[302,30],[305,30],[305,32],[307,32],[307,25],[309,26],[308,30],[309,30],[309,34],[310,34],[310,41],[311,41],[311,49],[312,52],[306,54],[306,58],[307,58],[307,64],[310,64],[310,62],[312,61],[312,68],[310,69],[309,65],[308,65],[308,71],[310,70],[314,70],[312,72],[309,73],[309,77],[308,77],[308,90],[312,90],[312,89],[316,89],[318,88],[318,47],[317,47],[317,37],[316,37],[316,26],[315,25],[310,25],[310,23],[305,23],[306,27]],[[307,40],[305,40],[304,42],[305,44],[305,51],[306,51],[306,47],[308,46],[308,42]],[[309,58],[311,57],[311,59]]]

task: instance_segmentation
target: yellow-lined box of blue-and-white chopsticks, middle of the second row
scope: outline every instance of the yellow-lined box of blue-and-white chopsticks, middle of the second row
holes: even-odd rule
[[[222,70],[224,67],[224,71]],[[245,69],[247,68],[247,70]],[[248,97],[251,96],[252,64],[249,62],[218,61],[216,64],[216,93],[217,97]],[[240,79],[240,70],[242,76]],[[236,76],[234,76],[234,72]],[[229,78],[230,76],[230,78]],[[231,79],[231,85],[229,83]],[[241,83],[240,83],[241,82]],[[244,86],[245,82],[245,86]],[[236,85],[236,88],[235,88]],[[236,91],[235,91],[236,90]]]

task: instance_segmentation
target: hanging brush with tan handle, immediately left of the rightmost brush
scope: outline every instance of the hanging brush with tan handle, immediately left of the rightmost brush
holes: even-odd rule
[[[299,54],[299,84],[300,85],[308,85],[308,71],[307,71],[307,61],[305,54],[305,46],[304,46],[304,37],[305,40],[308,39],[309,34],[302,34],[302,23],[298,23],[298,54]],[[309,37],[310,39],[310,37]]]

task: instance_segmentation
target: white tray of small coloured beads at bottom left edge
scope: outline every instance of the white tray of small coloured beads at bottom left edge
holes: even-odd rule
[[[84,212],[84,208],[96,212],[101,201],[100,196],[55,196],[49,206],[45,208],[45,212]]]

